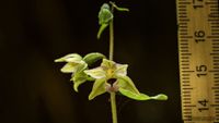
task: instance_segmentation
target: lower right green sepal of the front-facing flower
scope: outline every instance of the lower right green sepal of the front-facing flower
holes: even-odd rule
[[[124,88],[126,90],[129,90],[136,95],[139,94],[138,89],[136,88],[134,82],[128,77],[128,76],[118,76],[117,77],[118,81],[118,86],[120,88]]]

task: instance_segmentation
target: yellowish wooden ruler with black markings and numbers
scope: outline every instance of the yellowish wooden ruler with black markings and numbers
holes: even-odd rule
[[[219,123],[218,0],[177,0],[184,123]]]

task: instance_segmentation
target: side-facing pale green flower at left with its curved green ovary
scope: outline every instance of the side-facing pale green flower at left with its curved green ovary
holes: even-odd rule
[[[103,58],[105,58],[105,56],[99,52],[89,53],[83,58],[78,53],[70,53],[55,60],[55,62],[67,62],[60,71],[62,73],[71,73],[70,81],[73,82],[73,89],[78,91],[79,85],[87,81],[93,81],[84,73],[84,70],[88,70],[88,66]]]

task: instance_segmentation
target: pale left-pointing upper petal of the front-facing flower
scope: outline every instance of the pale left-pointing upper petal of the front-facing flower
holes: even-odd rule
[[[84,73],[96,79],[106,77],[105,71],[100,66],[92,70],[85,70]]]

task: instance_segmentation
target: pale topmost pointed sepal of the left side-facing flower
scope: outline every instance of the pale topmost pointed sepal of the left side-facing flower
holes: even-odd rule
[[[59,58],[57,60],[55,60],[55,62],[81,62],[81,56],[78,54],[78,53],[70,53],[70,54],[67,54],[62,58]]]

